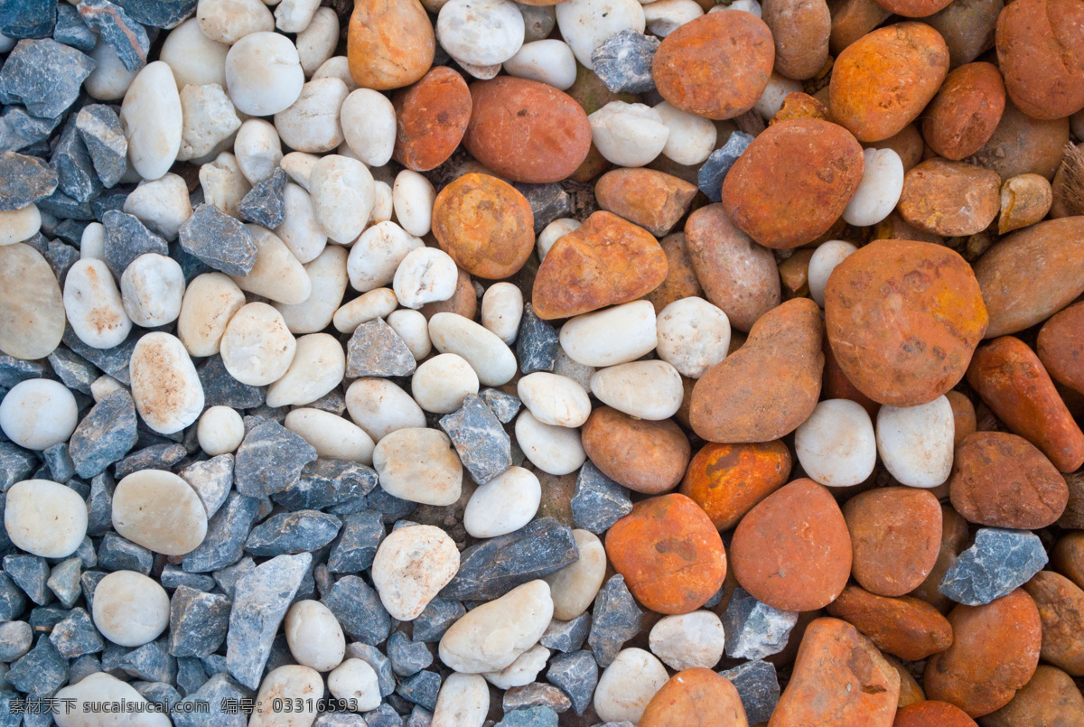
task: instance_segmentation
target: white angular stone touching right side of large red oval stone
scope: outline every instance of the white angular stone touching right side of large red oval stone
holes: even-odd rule
[[[644,104],[611,101],[588,121],[598,153],[619,167],[644,166],[662,152],[670,137],[659,113]]]

